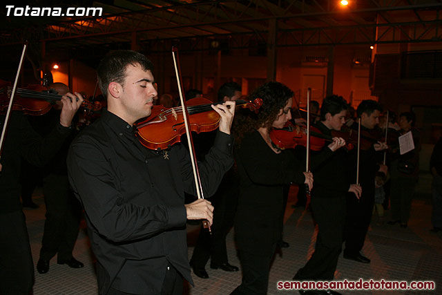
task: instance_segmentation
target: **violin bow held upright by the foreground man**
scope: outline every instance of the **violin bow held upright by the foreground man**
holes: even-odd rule
[[[184,118],[184,126],[186,128],[186,135],[187,135],[187,144],[189,144],[189,153],[191,155],[193,177],[195,178],[196,193],[197,193],[198,199],[201,199],[201,198],[204,199],[204,193],[202,191],[202,184],[201,184],[201,177],[200,177],[200,170],[198,169],[198,163],[196,162],[196,154],[195,154],[195,148],[193,146],[192,133],[189,128],[189,125],[190,125],[189,113],[187,112],[186,99],[184,99],[184,95],[182,93],[182,80],[180,79],[181,68],[180,68],[180,62],[178,61],[178,48],[176,48],[175,46],[172,47],[172,57],[173,57],[173,65],[175,66],[175,75],[177,77],[178,92],[180,93],[182,115]],[[204,229],[209,229],[209,233],[211,233],[209,221],[202,220],[202,226],[204,227]]]

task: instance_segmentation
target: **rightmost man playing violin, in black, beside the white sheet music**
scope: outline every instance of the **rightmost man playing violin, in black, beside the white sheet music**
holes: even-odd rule
[[[356,113],[361,117],[361,133],[372,133],[379,123],[379,114],[382,107],[378,102],[367,99],[359,104]],[[358,124],[354,124],[352,129],[358,129]],[[362,136],[362,135],[361,135]],[[381,153],[387,149],[387,144],[377,142],[370,144],[368,149],[361,149],[359,161],[359,182],[363,189],[361,198],[355,200],[352,196],[347,196],[347,220],[345,221],[345,250],[344,258],[355,260],[360,263],[370,263],[369,258],[363,256],[360,251],[363,248],[365,236],[372,220],[374,206],[374,178],[376,171],[387,173],[387,166],[378,164],[381,162]],[[356,149],[349,152],[347,164],[349,165],[350,176],[356,177],[357,155]]]

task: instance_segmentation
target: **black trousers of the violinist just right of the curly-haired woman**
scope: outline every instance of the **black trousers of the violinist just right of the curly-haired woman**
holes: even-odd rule
[[[311,209],[318,225],[315,251],[307,264],[298,270],[298,280],[333,280],[343,244],[345,196],[311,198]]]

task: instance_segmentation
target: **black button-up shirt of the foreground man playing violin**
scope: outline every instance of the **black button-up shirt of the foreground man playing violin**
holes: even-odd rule
[[[233,164],[232,144],[231,135],[218,132],[199,165],[206,197]],[[181,144],[146,149],[131,125],[106,111],[71,145],[68,176],[86,212],[100,294],[109,287],[158,294],[168,265],[192,282],[184,191],[195,196],[195,184]]]

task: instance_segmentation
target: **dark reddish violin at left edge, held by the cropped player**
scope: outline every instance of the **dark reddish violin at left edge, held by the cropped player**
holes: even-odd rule
[[[0,80],[0,113],[8,108],[11,91],[10,83]],[[48,88],[39,84],[17,88],[12,110],[23,111],[27,115],[44,115],[48,113],[57,100],[61,100],[62,96],[53,89],[48,90]],[[92,104],[86,97],[81,107],[88,111],[99,111],[102,108],[99,102]]]

